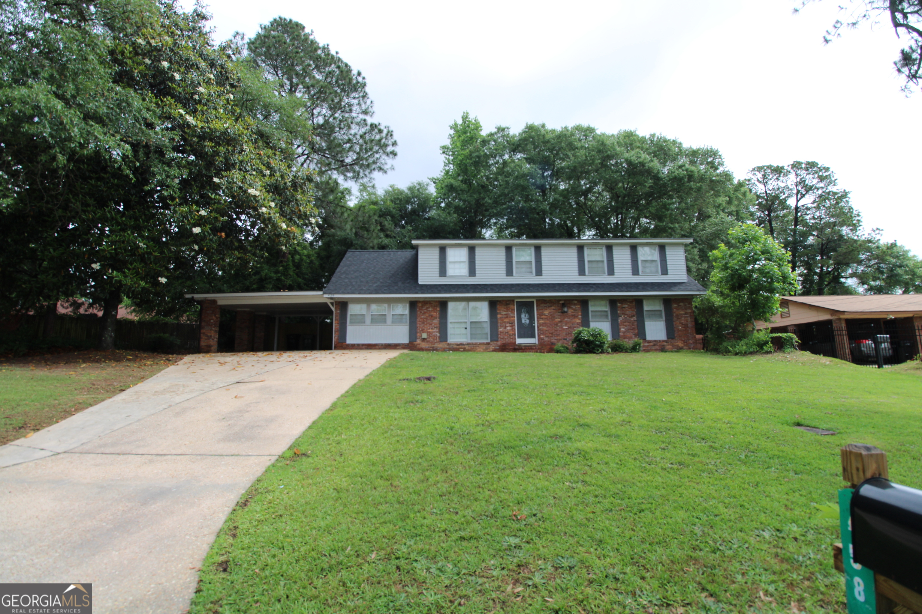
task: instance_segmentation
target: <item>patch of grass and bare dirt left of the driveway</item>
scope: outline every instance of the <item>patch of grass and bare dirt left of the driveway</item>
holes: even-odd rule
[[[0,357],[0,445],[59,423],[182,359],[124,350]]]

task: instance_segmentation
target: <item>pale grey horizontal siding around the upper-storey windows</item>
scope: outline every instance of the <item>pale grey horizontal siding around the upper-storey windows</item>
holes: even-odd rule
[[[552,245],[537,242],[541,245],[541,276],[506,276],[506,251],[502,243],[484,244],[477,246],[477,283],[478,284],[576,284],[581,281],[588,282],[639,282],[641,278],[631,274],[631,247],[629,243],[614,244],[612,255],[614,257],[615,274],[599,280],[597,277],[578,276],[576,246]],[[519,246],[515,246],[519,247]],[[586,246],[589,247],[589,246]],[[597,247],[597,246],[592,246]],[[643,247],[643,246],[639,246]],[[658,247],[653,246],[657,249]],[[603,249],[604,251],[604,249]],[[439,277],[439,246],[420,245],[420,284],[470,284],[469,277]],[[685,274],[685,246],[681,244],[666,246],[666,260],[668,262],[668,275],[658,275],[656,279],[644,277],[645,282],[684,282]],[[658,271],[657,271],[658,272]]]

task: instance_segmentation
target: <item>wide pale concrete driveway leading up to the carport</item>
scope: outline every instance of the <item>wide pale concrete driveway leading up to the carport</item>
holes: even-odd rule
[[[396,351],[196,354],[0,446],[0,582],[92,583],[94,612],[182,612],[242,492]]]

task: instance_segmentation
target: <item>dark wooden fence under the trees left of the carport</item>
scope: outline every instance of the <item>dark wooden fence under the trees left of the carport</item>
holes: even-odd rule
[[[38,339],[44,330],[44,316],[24,316],[19,330],[27,330]],[[144,322],[134,319],[115,320],[115,347],[121,350],[148,350],[152,335],[170,335],[179,342],[179,351],[198,352],[198,324],[182,322]],[[75,342],[96,342],[100,336],[99,318],[54,317],[54,338]]]

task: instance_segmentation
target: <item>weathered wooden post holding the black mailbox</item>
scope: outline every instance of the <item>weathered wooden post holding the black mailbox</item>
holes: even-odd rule
[[[888,478],[886,453],[874,446],[848,444],[841,449],[842,478],[849,488],[856,488],[869,478]],[[842,544],[833,544],[833,566],[845,573]],[[846,587],[847,588],[847,587]],[[922,595],[890,578],[874,573],[876,614],[922,614]]]

